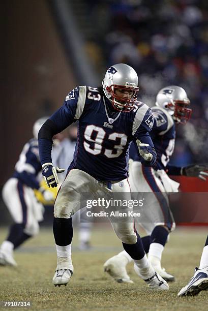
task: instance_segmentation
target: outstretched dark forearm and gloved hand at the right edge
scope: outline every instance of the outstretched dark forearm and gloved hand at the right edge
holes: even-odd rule
[[[205,164],[192,164],[188,166],[173,166],[167,165],[166,172],[172,176],[187,176],[187,177],[198,177],[202,180],[206,180],[208,176],[208,165]]]

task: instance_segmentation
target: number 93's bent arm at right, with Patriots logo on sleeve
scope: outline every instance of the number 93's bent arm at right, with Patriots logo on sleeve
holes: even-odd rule
[[[147,167],[153,166],[157,161],[157,153],[149,134],[153,125],[153,112],[146,105],[143,105],[141,111],[140,109],[137,111],[133,125],[133,134],[136,137],[136,144],[140,154],[141,163]],[[137,129],[134,133],[135,127],[137,127]]]

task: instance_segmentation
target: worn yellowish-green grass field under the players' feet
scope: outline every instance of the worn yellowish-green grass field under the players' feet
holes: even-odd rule
[[[6,232],[0,230],[0,241]],[[51,283],[56,266],[52,231],[43,228],[15,253],[18,267],[0,267],[0,301],[31,301],[30,310],[205,310],[208,292],[190,298],[179,298],[177,292],[199,264],[206,235],[200,228],[180,228],[171,234],[163,266],[175,275],[176,282],[169,291],[157,292],[136,276],[132,264],[128,272],[134,284],[117,284],[103,272],[105,260],[121,250],[111,227],[94,229],[93,247],[85,252],[77,249],[75,230],[74,275],[66,287],[59,288]]]

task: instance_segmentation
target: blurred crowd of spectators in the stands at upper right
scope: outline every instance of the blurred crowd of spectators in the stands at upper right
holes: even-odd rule
[[[172,162],[207,162],[207,0],[87,0],[94,21],[91,45],[105,67],[126,63],[138,73],[140,100],[152,106],[166,85],[185,88],[192,118],[178,127]],[[93,52],[91,53],[93,55]],[[99,57],[94,57],[99,62]],[[98,65],[99,63],[95,64]],[[204,146],[202,152],[201,147]]]

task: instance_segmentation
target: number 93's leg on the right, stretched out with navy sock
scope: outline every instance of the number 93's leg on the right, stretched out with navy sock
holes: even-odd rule
[[[122,202],[131,200],[130,187],[128,181],[125,179],[121,182],[114,183],[112,185],[113,199],[115,200],[115,194],[118,193],[117,198]],[[129,254],[134,262],[134,269],[137,275],[139,275],[144,281],[152,288],[161,290],[168,289],[167,283],[155,272],[152,266],[149,264],[144,252],[141,238],[134,231],[133,217],[128,216],[129,208],[118,208],[122,211],[123,215],[118,217],[117,221],[111,220],[113,229],[122,240],[124,250]],[[126,214],[125,214],[126,211]]]

